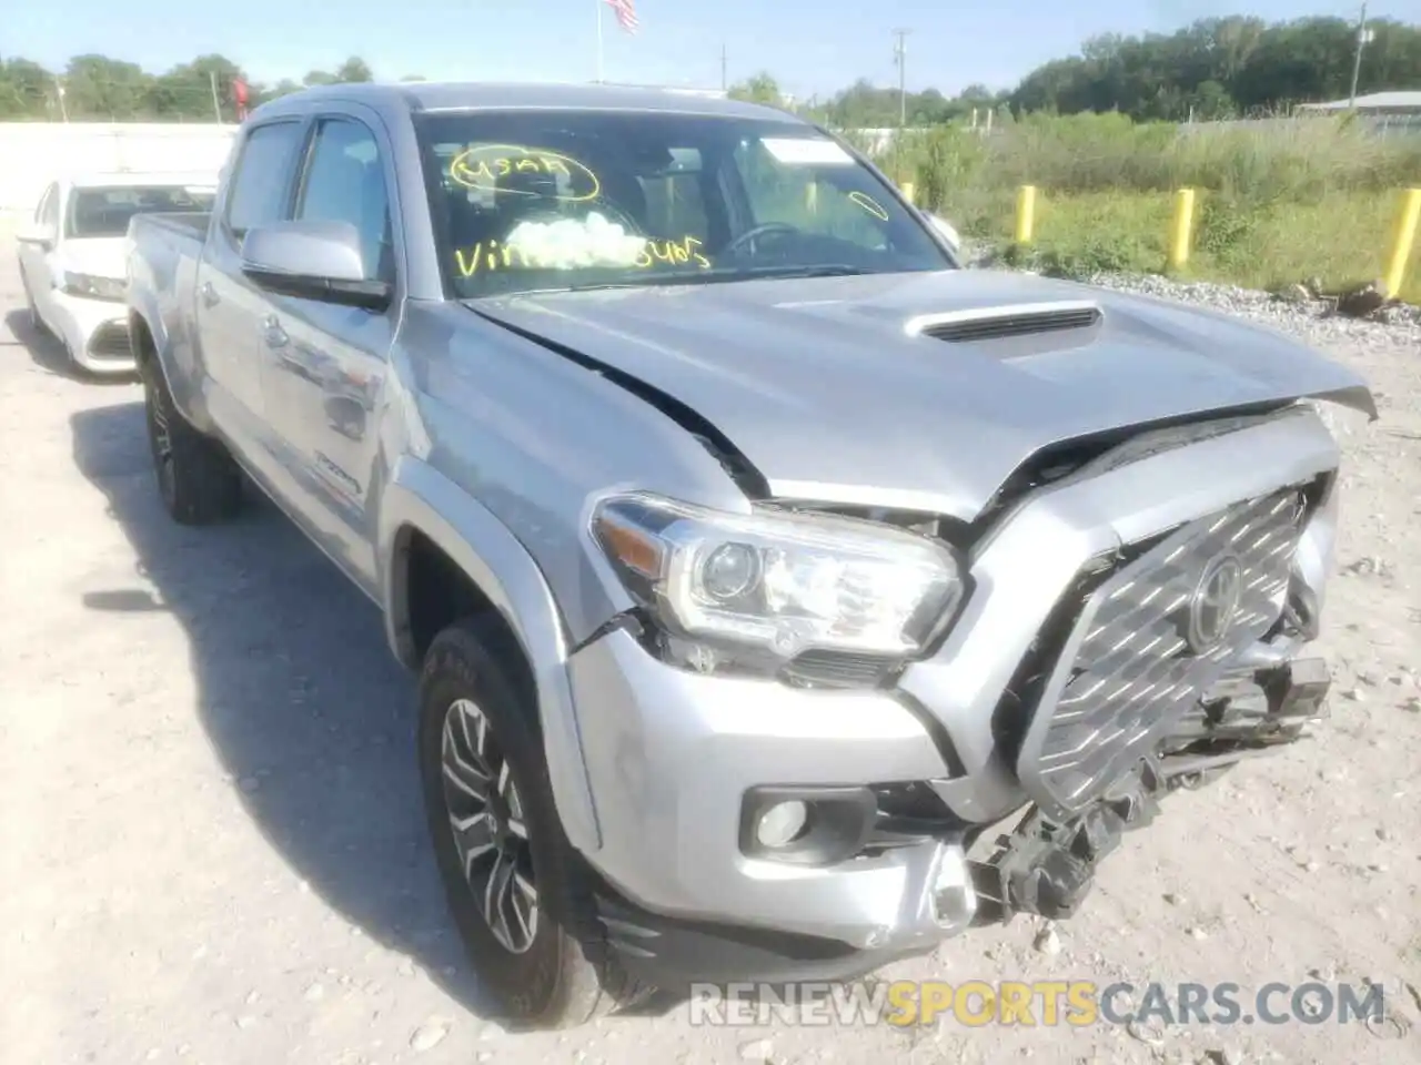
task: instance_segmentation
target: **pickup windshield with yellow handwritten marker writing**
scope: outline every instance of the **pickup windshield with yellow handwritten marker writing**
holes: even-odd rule
[[[527,109],[418,129],[456,298],[955,266],[882,179],[799,122]]]

